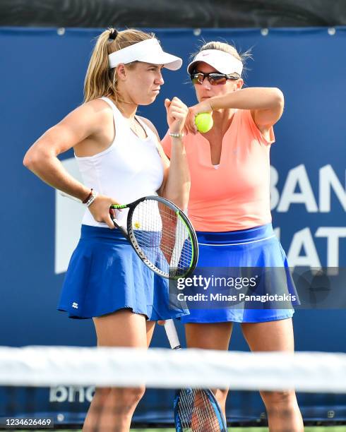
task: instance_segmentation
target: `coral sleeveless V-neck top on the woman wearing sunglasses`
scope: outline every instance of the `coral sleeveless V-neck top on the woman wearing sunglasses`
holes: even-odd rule
[[[189,218],[193,227],[204,232],[249,229],[271,222],[270,144],[247,109],[234,113],[222,139],[220,164],[215,169],[209,141],[198,133],[184,137],[191,173]],[[171,139],[161,141],[167,156]]]

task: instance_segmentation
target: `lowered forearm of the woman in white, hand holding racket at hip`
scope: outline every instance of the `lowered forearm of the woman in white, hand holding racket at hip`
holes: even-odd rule
[[[90,193],[90,189],[73,178],[64,168],[56,155],[44,150],[35,150],[25,155],[23,164],[42,181],[53,188],[75,196],[80,200]]]

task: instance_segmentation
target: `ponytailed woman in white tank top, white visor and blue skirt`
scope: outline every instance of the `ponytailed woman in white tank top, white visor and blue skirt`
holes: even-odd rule
[[[93,318],[99,346],[148,347],[155,320],[186,313],[169,307],[167,282],[143,265],[109,215],[112,203],[157,193],[187,206],[189,170],[181,134],[188,108],[177,97],[165,100],[173,143],[170,162],[153,124],[136,116],[138,105],[153,103],[159,94],[162,67],[177,70],[181,59],[164,52],[154,35],[105,30],[90,59],[84,103],[25,155],[32,172],[87,206],[59,310],[71,318]],[[57,158],[70,148],[84,184]],[[97,389],[83,430],[129,431],[143,391]]]

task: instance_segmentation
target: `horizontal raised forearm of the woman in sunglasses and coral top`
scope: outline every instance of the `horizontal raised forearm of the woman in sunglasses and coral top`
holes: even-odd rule
[[[208,99],[213,110],[217,109],[273,109],[283,105],[284,97],[278,88],[252,87],[214,96]]]

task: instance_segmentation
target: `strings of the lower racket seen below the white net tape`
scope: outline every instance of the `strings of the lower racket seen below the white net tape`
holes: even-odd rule
[[[204,390],[180,392],[178,412],[184,432],[220,432],[223,428]]]

